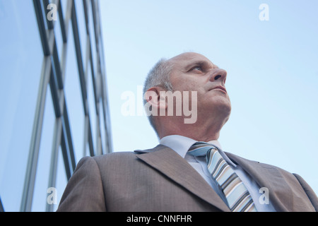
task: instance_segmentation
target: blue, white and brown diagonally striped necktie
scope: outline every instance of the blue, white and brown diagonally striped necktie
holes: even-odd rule
[[[232,212],[257,211],[249,191],[216,147],[205,142],[196,142],[188,153],[194,156],[206,156],[208,171],[220,186]]]

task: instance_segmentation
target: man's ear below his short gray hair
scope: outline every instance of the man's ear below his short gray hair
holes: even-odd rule
[[[166,98],[160,95],[162,91],[165,92],[166,90],[160,86],[154,86],[146,91],[143,98],[156,109],[166,109]]]

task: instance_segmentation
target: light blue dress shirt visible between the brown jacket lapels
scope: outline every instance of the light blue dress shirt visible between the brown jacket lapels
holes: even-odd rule
[[[196,142],[197,141],[194,141],[192,138],[187,138],[185,136],[179,135],[165,136],[160,140],[160,144],[165,145],[171,148],[172,150],[175,150],[175,152],[179,154],[181,157],[183,157],[184,160],[187,160],[187,162],[189,162],[189,165],[194,167],[196,172],[198,172],[206,180],[206,182],[208,182],[208,184],[211,185],[211,187],[223,199],[223,201],[225,201],[226,199],[223,192],[216,184],[216,181],[213,179],[212,175],[208,172],[208,167],[206,165],[206,157],[198,157],[187,154],[189,148]],[[252,177],[249,176],[249,174],[247,174],[247,172],[245,172],[244,169],[242,169],[242,167],[240,167],[240,165],[236,165],[228,158],[227,155],[225,155],[220,146],[220,143],[218,141],[209,141],[208,143],[211,143],[212,145],[215,145],[216,148],[218,148],[220,155],[222,155],[225,161],[228,162],[228,165],[232,167],[237,176],[240,177],[242,182],[245,184],[247,190],[249,191],[249,194],[251,194],[251,197],[254,201],[257,210],[259,212],[276,211],[275,208],[273,208],[270,198],[269,204],[259,202],[259,198],[262,195],[262,193],[259,192],[259,185],[257,184],[257,182],[254,181],[254,179],[252,179]]]

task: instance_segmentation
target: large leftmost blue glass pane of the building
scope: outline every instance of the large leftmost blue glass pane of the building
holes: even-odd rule
[[[43,60],[37,28],[33,1],[0,0],[0,194],[6,211],[20,210]]]

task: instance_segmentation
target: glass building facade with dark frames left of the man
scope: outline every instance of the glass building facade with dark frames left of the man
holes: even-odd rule
[[[98,0],[0,0],[0,211],[54,211],[112,152]]]

